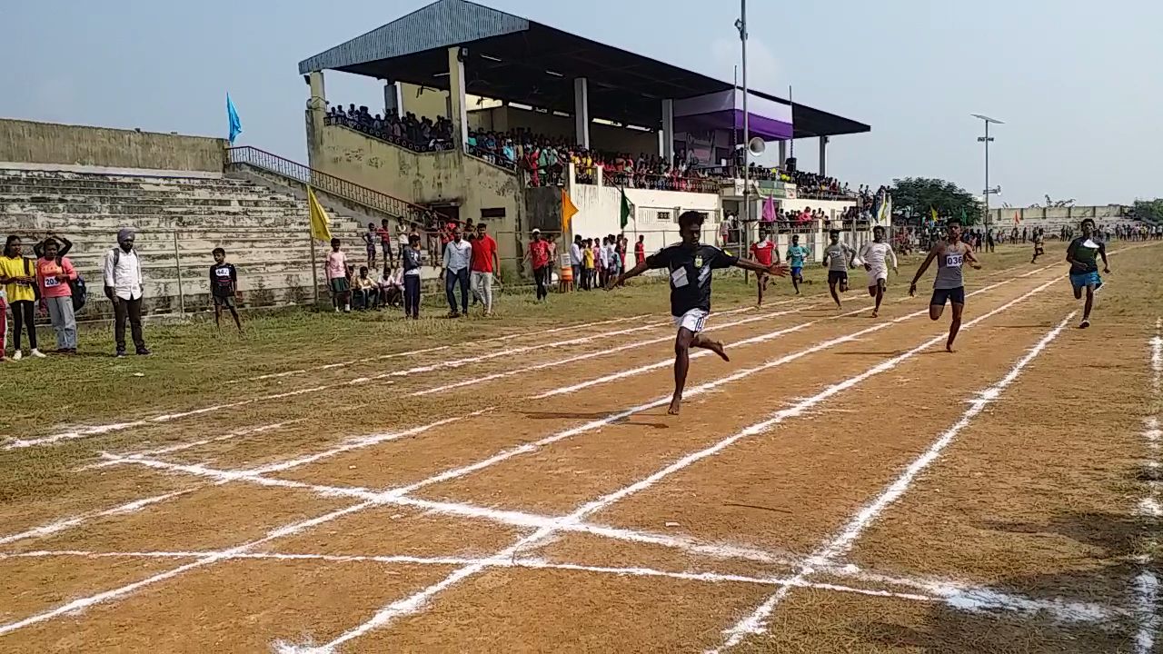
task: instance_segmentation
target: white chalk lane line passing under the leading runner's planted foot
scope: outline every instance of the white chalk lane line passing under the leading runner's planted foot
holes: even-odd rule
[[[999,307],[999,308],[997,308],[997,310],[994,310],[994,311],[992,311],[992,312],[990,312],[990,313],[987,313],[987,314],[985,314],[985,315],[983,315],[983,317],[980,317],[978,319],[975,319],[973,321],[968,322],[964,327],[969,327],[970,325],[973,325],[978,320],[983,320],[983,319],[985,319],[985,318],[987,318],[990,315],[993,315],[994,313],[997,313],[997,312],[999,312],[999,311],[1001,311],[1004,308],[1007,308],[1007,307],[1012,306],[1016,301],[1022,300],[1022,299],[1025,299],[1025,298],[1027,298],[1027,297],[1029,297],[1029,296],[1032,296],[1032,294],[1034,294],[1034,293],[1036,293],[1036,292],[1046,289],[1047,286],[1049,286],[1053,283],[1054,282],[1049,282],[1047,284],[1043,284],[1042,286],[1039,286],[1034,291],[1030,291],[1030,292],[1021,296],[1020,298],[1018,298],[1015,300],[1012,300],[1012,301],[1003,305],[1001,307]],[[983,291],[984,290],[986,290],[986,289],[983,289]],[[926,314],[927,312],[928,312],[928,310],[925,310],[925,311],[914,312],[914,313],[912,313],[909,315],[911,317],[918,317],[918,315],[921,315],[921,314]],[[898,319],[898,321],[899,320],[902,320],[902,319]],[[879,328],[879,327],[877,327],[877,328]],[[807,350],[802,350],[801,353],[798,353],[798,354],[794,354],[794,355],[787,355],[787,356],[784,356],[784,357],[779,357],[777,360],[769,361],[765,364],[762,364],[762,365],[758,365],[758,367],[755,367],[755,368],[750,368],[750,369],[745,369],[745,370],[740,370],[740,371],[737,371],[737,372],[735,372],[733,375],[728,375],[726,377],[721,377],[719,379],[715,379],[715,381],[712,381],[712,382],[707,382],[705,384],[700,384],[700,385],[691,389],[690,391],[687,391],[686,396],[687,397],[692,397],[692,396],[695,396],[695,394],[708,392],[711,390],[714,390],[714,389],[719,388],[720,385],[728,384],[728,383],[742,379],[742,378],[748,377],[748,376],[750,376],[750,375],[752,375],[755,372],[758,372],[758,371],[762,371],[762,370],[766,370],[766,369],[773,368],[776,365],[780,365],[783,363],[786,363],[787,361],[792,361],[792,360],[798,358],[800,356],[806,356],[807,354],[826,349],[826,348],[828,348],[832,344],[835,344],[837,342],[850,341],[850,340],[852,340],[855,337],[858,337],[857,336],[858,334],[861,334],[861,332],[857,332],[856,335],[851,335],[850,334],[848,336],[842,336],[840,339],[832,339],[829,341],[821,342],[821,343],[819,343],[818,346],[815,346],[813,348],[808,348]],[[943,339],[943,337],[944,336],[939,336],[934,341]],[[493,456],[491,456],[491,457],[488,457],[486,460],[479,461],[477,463],[473,463],[473,464],[470,464],[470,465],[464,465],[462,468],[455,468],[455,469],[451,469],[451,470],[447,470],[447,471],[444,471],[444,472],[442,472],[440,475],[435,475],[435,476],[429,477],[427,479],[422,479],[420,482],[409,484],[407,486],[401,486],[401,488],[398,488],[398,489],[394,489],[394,490],[387,491],[387,492],[391,492],[391,493],[395,495],[397,497],[404,497],[405,495],[414,492],[414,491],[416,491],[416,490],[419,490],[421,488],[424,488],[424,486],[428,486],[428,485],[431,485],[431,484],[437,484],[437,483],[441,483],[441,482],[445,482],[445,481],[449,481],[449,479],[455,479],[455,478],[462,477],[464,475],[469,475],[471,472],[475,472],[477,470],[481,470],[481,469],[487,468],[490,465],[500,463],[502,461],[507,461],[507,460],[509,460],[509,458],[512,458],[514,456],[519,456],[519,455],[522,455],[522,454],[528,454],[528,453],[531,453],[531,452],[536,452],[537,449],[540,449],[540,448],[542,448],[542,447],[544,447],[544,446],[547,446],[549,443],[557,442],[557,441],[563,440],[563,439],[572,438],[572,436],[575,436],[577,434],[582,434],[582,433],[590,432],[590,431],[593,431],[593,429],[599,429],[601,427],[605,427],[605,426],[611,425],[613,422],[616,422],[619,420],[625,420],[626,418],[628,418],[630,415],[634,415],[636,413],[640,413],[642,411],[647,411],[647,410],[650,410],[650,408],[663,406],[663,405],[665,405],[669,401],[670,401],[669,397],[663,397],[663,398],[661,398],[658,400],[655,400],[652,403],[640,405],[640,406],[636,406],[634,408],[629,408],[629,410],[621,411],[621,412],[618,412],[618,413],[612,413],[612,414],[608,414],[608,415],[606,415],[604,418],[600,418],[600,419],[597,419],[597,420],[592,420],[590,422],[580,425],[578,427],[573,427],[573,428],[570,428],[570,429],[565,429],[563,432],[558,432],[557,434],[554,434],[554,435],[548,436],[545,439],[542,439],[540,441],[535,441],[535,442],[531,442],[531,443],[525,443],[522,446],[519,446],[519,447],[515,447],[515,448],[512,448],[512,449],[502,450],[502,452],[500,452],[500,453],[498,453],[498,454],[495,454],[495,455],[493,455]],[[112,456],[112,455],[107,455],[107,456]],[[114,457],[114,458],[116,458],[116,457]],[[358,512],[358,511],[363,511],[365,509],[370,509],[372,506],[379,506],[379,505],[381,505],[379,502],[365,502],[363,504],[357,504],[357,505],[348,507],[348,509],[345,509],[343,511],[329,513],[327,516],[322,516],[322,517],[320,517],[320,518],[316,519],[317,521],[315,524],[317,525],[317,524],[327,523],[327,521],[330,521],[330,520],[333,520],[335,518],[345,516],[345,514],[348,514],[350,512]],[[297,533],[298,531],[301,531],[301,529],[297,529],[294,527],[297,527],[298,525],[302,525],[302,524],[304,523],[297,523],[295,525],[288,526],[287,528],[292,529],[288,533]],[[272,534],[278,534],[278,533],[279,533],[279,531],[272,532]],[[240,547],[237,547],[235,549],[238,550],[238,552],[247,552],[250,548],[259,545],[261,542],[266,542],[266,540],[254,541],[251,543],[245,543],[245,545],[240,546]],[[214,562],[214,560],[200,560],[200,561],[201,561],[200,563],[197,563],[197,564],[191,563],[190,566],[199,567],[201,564],[207,564],[207,563],[213,563]],[[83,609],[85,609],[85,607],[87,607],[87,606],[90,606],[92,604],[97,604],[97,603],[101,603],[101,602],[107,602],[107,600],[110,600],[110,599],[120,598],[120,597],[124,596],[124,595],[131,593],[131,592],[136,591],[137,589],[143,588],[145,585],[149,585],[149,584],[156,583],[158,581],[164,581],[164,580],[167,580],[170,577],[180,575],[180,574],[183,574],[184,571],[186,571],[188,569],[191,569],[188,566],[181,567],[181,568],[176,568],[176,569],[172,569],[172,570],[169,570],[169,571],[165,571],[165,573],[160,573],[159,575],[155,575],[154,577],[149,577],[149,578],[143,580],[141,582],[137,582],[135,584],[130,584],[130,587],[122,587],[120,589],[114,589],[114,590],[110,590],[110,591],[107,591],[107,592],[102,592],[102,593],[99,593],[99,595],[95,595],[95,596],[91,596],[88,598],[77,599],[74,602],[71,602],[71,603],[62,606],[62,607],[53,609],[53,610],[50,610],[48,612],[40,613],[37,616],[28,618],[27,620],[22,620],[20,623],[13,623],[13,624],[6,625],[6,626],[0,626],[0,634],[6,633],[8,631],[14,631],[16,628],[21,628],[23,626],[28,626],[29,624],[35,624],[35,623],[38,623],[38,621],[52,619],[52,618],[56,618],[56,617],[58,617],[60,614],[64,614],[64,613],[67,613],[67,612],[71,612],[71,611],[83,610]],[[29,621],[29,620],[31,620],[31,621]]]

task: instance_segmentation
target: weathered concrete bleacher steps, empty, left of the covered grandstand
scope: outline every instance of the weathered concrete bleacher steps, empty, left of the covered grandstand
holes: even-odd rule
[[[180,172],[164,177],[0,170],[0,214],[12,232],[38,239],[53,230],[72,241],[69,257],[92,289],[83,319],[110,313],[101,270],[124,226],[137,229],[149,311],[209,306],[211,251],[216,247],[224,248],[238,269],[248,306],[313,297],[306,201],[249,180]],[[333,234],[344,240],[352,263],[358,263],[364,250],[361,222],[335,213],[331,219]],[[328,249],[316,243],[320,278]]]

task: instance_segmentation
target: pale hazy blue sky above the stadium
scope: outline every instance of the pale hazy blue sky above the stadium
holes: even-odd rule
[[[422,0],[58,0],[2,9],[0,116],[224,136],[305,161],[297,64]],[[729,80],[734,2],[487,0],[498,9]],[[984,113],[998,201],[1163,196],[1158,0],[752,0],[751,84],[872,126],[829,145],[851,184],[941,177],[983,187]],[[374,80],[329,73],[333,101],[381,106]],[[814,170],[816,142],[800,141]]]

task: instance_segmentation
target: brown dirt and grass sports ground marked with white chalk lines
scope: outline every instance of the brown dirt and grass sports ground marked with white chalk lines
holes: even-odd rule
[[[1163,651],[1163,246],[1111,249],[1089,330],[1059,244],[982,255],[956,354],[918,257],[878,319],[722,277],[680,417],[661,284],[87,330],[5,364],[0,652]]]

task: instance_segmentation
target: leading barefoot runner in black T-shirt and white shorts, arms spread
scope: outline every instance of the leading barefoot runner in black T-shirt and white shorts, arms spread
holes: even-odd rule
[[[712,271],[737,266],[756,273],[784,277],[787,269],[782,265],[763,266],[757,263],[740,260],[714,246],[699,243],[702,230],[702,214],[693,211],[678,216],[680,243],[669,246],[650,255],[647,260],[626,272],[612,278],[606,290],[612,290],[632,277],[637,277],[647,270],[666,269],[670,273],[670,313],[675,317],[678,335],[675,337],[675,396],[666,413],[678,415],[683,403],[683,388],[686,386],[686,370],[690,367],[690,349],[708,349],[723,361],[730,361],[723,351],[720,341],[712,341],[701,334],[707,315],[711,313],[711,277]]]

